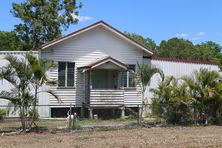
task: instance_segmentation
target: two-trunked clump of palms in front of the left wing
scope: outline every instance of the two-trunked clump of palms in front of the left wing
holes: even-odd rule
[[[29,114],[31,105],[33,106],[33,114],[29,129],[31,129],[32,124],[36,119],[38,93],[50,93],[60,101],[52,91],[39,90],[44,84],[56,84],[56,81],[50,80],[46,74],[50,68],[54,68],[56,65],[53,61],[37,59],[37,57],[31,53],[28,53],[25,57],[20,59],[10,55],[6,56],[5,59],[9,62],[9,65],[0,69],[0,79],[7,80],[13,87],[10,91],[2,91],[0,93],[0,98],[7,99],[16,107],[19,107],[22,129],[23,131],[26,131],[26,117]]]

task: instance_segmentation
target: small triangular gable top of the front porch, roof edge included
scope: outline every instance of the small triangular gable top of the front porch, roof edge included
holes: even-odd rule
[[[110,56],[93,61],[85,66],[78,67],[78,69],[117,69],[128,70],[128,66]]]

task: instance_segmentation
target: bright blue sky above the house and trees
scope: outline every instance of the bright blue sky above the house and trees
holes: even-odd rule
[[[20,20],[10,13],[13,2],[1,0],[0,30],[11,31]],[[222,45],[222,0],[77,0],[79,23],[63,34],[103,20],[124,32],[137,33],[157,44],[173,37],[195,44],[214,41]]]

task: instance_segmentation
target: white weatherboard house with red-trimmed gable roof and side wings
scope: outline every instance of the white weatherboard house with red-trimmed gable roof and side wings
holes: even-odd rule
[[[7,54],[22,57],[25,52],[0,52],[0,66],[7,63],[2,60]],[[158,67],[165,76],[175,77],[192,75],[200,68],[219,71],[215,62],[153,57],[152,50],[103,21],[44,44],[35,54],[58,63],[57,68],[48,72],[49,78],[58,80],[58,85],[42,89],[52,90],[62,103],[49,94],[39,94],[39,114],[49,118],[66,117],[70,104],[79,114],[91,117],[109,113],[115,116],[120,111],[124,115],[126,108],[138,110],[142,98],[132,74],[137,63]],[[148,84],[148,102],[152,97],[149,89],[155,88],[159,80],[155,75]],[[0,90],[3,89],[10,89],[6,81],[0,81]],[[0,99],[0,105],[7,104]]]

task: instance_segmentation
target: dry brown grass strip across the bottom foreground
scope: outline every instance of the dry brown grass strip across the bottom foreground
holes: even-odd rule
[[[167,127],[0,138],[0,147],[222,147],[222,127]]]

